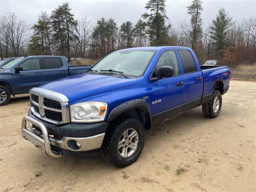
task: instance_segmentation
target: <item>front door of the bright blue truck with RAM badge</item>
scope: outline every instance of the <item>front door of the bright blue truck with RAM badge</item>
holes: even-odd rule
[[[152,88],[149,95],[150,112],[156,124],[182,113],[185,96],[184,77],[180,75],[180,66],[174,50],[162,53],[152,77],[156,76],[156,72],[161,66],[171,66],[174,69],[174,75],[148,84],[149,88]]]

